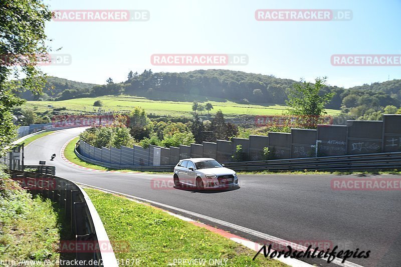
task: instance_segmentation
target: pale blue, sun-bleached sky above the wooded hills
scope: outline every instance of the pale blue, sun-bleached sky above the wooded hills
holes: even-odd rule
[[[147,0],[46,1],[51,10],[148,10],[147,22],[49,22],[55,54],[68,66],[44,66],[52,76],[104,84],[142,73],[230,69],[351,87],[401,79],[401,67],[332,66],[333,54],[401,54],[401,0],[267,1]],[[351,21],[258,22],[258,9],[351,10]],[[153,66],[152,54],[247,54],[245,66]]]

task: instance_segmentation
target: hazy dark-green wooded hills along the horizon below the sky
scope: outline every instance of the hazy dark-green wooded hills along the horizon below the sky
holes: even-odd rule
[[[93,85],[68,81],[57,77],[48,78],[43,96],[33,96],[26,92],[27,100],[66,100],[104,95],[141,95],[148,97],[199,95],[225,98],[239,103],[285,104],[287,88],[297,81],[280,79],[272,75],[245,73],[230,70],[197,70],[184,73],[153,73],[145,70],[142,74],[130,72],[127,81],[106,85]],[[53,88],[53,89],[52,89]],[[335,92],[329,109],[340,109],[343,99],[349,95],[364,100],[371,99],[377,106],[393,105],[399,107],[401,100],[401,80],[383,83],[364,84],[348,89],[327,86],[322,93]],[[349,99],[349,98],[348,98]],[[349,107],[349,103],[347,105]]]

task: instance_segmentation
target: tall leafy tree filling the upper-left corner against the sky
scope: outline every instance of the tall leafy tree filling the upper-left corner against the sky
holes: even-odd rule
[[[7,151],[16,137],[12,110],[24,101],[15,95],[24,87],[35,95],[45,85],[43,72],[38,69],[38,58],[48,58],[45,23],[52,19],[52,12],[41,0],[3,0],[0,4],[0,156]],[[7,82],[10,75],[18,79],[25,75],[22,84]]]

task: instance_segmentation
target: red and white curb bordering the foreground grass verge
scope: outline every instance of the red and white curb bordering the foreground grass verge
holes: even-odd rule
[[[95,189],[97,189],[99,191],[102,191],[104,193],[114,194],[114,195],[117,195],[117,196],[125,197],[125,198],[127,198],[127,199],[129,199],[131,201],[136,202],[136,203],[147,205],[147,206],[151,206],[153,208],[162,210],[162,211],[164,211],[164,212],[166,212],[166,213],[168,213],[168,214],[170,214],[170,215],[172,215],[172,216],[174,216],[176,218],[179,218],[181,220],[187,221],[187,222],[189,222],[189,223],[191,223],[193,225],[196,225],[198,227],[202,227],[202,228],[208,229],[209,231],[212,231],[212,232],[217,233],[217,234],[219,234],[219,235],[221,235],[223,237],[226,237],[226,238],[228,238],[230,240],[233,240],[234,242],[240,243],[240,244],[242,244],[242,245],[244,245],[244,246],[246,246],[246,247],[248,247],[248,248],[250,248],[250,249],[252,249],[254,251],[259,251],[262,248],[262,245],[259,244],[259,243],[256,243],[256,242],[251,241],[249,239],[246,239],[244,237],[238,236],[236,234],[230,233],[230,232],[225,231],[223,229],[219,229],[217,227],[205,224],[203,222],[195,221],[195,220],[193,220],[191,218],[188,218],[188,217],[185,217],[185,216],[182,216],[182,215],[179,215],[179,214],[175,214],[175,213],[173,213],[171,211],[168,211],[168,210],[165,210],[165,209],[150,205],[149,203],[146,203],[146,202],[143,202],[143,201],[139,201],[139,200],[135,199],[136,197],[134,197],[134,196],[130,196],[130,195],[127,195],[127,194],[124,194],[124,193],[119,193],[119,192],[115,192],[115,191],[112,191],[112,190],[107,190],[107,189],[104,189],[104,188],[100,188],[100,187],[96,187],[96,186],[92,186],[92,185],[88,185],[88,184],[83,184],[83,183],[79,183],[79,182],[76,182],[76,183],[82,184],[85,187],[95,188]],[[151,202],[153,202],[153,201],[151,201]],[[270,251],[273,253],[273,251],[275,251],[275,250],[271,249]],[[263,257],[263,253],[262,253],[262,257]],[[281,262],[283,262],[285,264],[288,264],[290,266],[314,267],[314,265],[311,265],[309,263],[306,263],[304,261],[301,261],[301,260],[295,259],[295,258],[284,258],[284,257],[275,256],[275,257],[273,257],[273,259],[281,261]]]

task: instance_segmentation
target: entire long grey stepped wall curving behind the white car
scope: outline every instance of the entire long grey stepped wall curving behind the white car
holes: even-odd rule
[[[269,132],[268,136],[251,135],[249,139],[233,138],[180,145],[179,147],[96,148],[80,141],[82,155],[107,163],[149,166],[175,165],[180,159],[216,158],[232,162],[237,145],[242,145],[247,160],[262,160],[263,148],[269,147],[269,159],[337,156],[401,151],[401,115],[384,115],[383,121],[349,120],[347,125],[319,125],[317,130],[291,129],[291,133]]]

